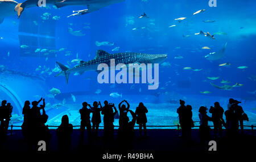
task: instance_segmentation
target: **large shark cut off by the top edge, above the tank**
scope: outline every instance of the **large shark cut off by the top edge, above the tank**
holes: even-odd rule
[[[15,6],[15,11],[18,13],[18,18],[22,14],[25,8],[40,6],[43,0],[27,0],[23,3],[18,3]],[[125,0],[47,0],[46,5],[55,5],[57,8],[64,6],[87,6],[86,10],[83,10],[82,14],[88,14],[93,11],[97,11],[100,8],[113,5],[114,3],[123,2]]]

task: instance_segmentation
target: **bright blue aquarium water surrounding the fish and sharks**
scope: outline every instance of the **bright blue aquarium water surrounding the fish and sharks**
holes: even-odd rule
[[[22,104],[25,100],[32,101],[38,100],[39,96],[46,97],[50,94],[49,90],[52,87],[60,89],[60,95],[56,95],[54,99],[46,97],[46,103],[51,104],[48,107],[49,116],[51,119],[55,117],[57,119],[51,120],[52,125],[59,125],[62,113],[68,113],[69,110],[78,113],[82,101],[93,103],[94,100],[100,100],[103,103],[104,100],[109,100],[118,105],[119,101],[126,99],[134,105],[131,108],[133,110],[139,102],[143,101],[147,103],[149,109],[149,125],[172,125],[176,120],[176,108],[179,106],[176,102],[179,99],[184,99],[187,104],[193,106],[193,118],[197,121],[200,105],[209,107],[215,101],[219,101],[226,109],[229,97],[242,101],[243,109],[250,113],[251,120],[248,124],[255,124],[255,5],[255,1],[249,0],[217,0],[217,7],[209,7],[207,0],[126,0],[90,14],[70,18],[67,16],[71,15],[73,10],[82,10],[86,6],[67,6],[60,9],[54,9],[52,6],[50,9],[26,8],[19,19],[16,15],[9,16],[0,24],[2,58],[0,65],[3,65],[1,69],[29,75],[1,72],[1,84],[12,88]],[[205,9],[205,12],[192,15],[193,12],[201,9]],[[51,15],[48,20],[43,20],[41,16],[46,12]],[[149,18],[138,19],[143,12]],[[60,19],[53,20],[53,16],[60,16]],[[174,20],[180,17],[187,19],[180,23]],[[203,20],[215,22],[204,23]],[[168,28],[170,25],[176,26]],[[72,28],[73,31],[82,30],[85,36],[73,36],[68,32],[68,28]],[[208,37],[196,36],[195,33],[200,31],[209,32],[212,35],[216,32],[224,32],[224,34],[215,34],[215,39],[212,40]],[[21,36],[23,39],[20,38]],[[36,45],[35,40],[38,41]],[[96,46],[96,41],[114,42],[114,45]],[[216,61],[204,58],[207,54],[220,50],[226,42],[228,44],[223,58]],[[21,45],[26,44],[31,44],[26,49],[26,52],[30,53],[25,53],[24,49],[20,48]],[[148,90],[147,84],[99,84],[97,73],[94,71],[76,76],[71,74],[68,84],[65,83],[64,76],[55,77],[57,73],[53,72],[49,74],[49,71],[55,68],[56,61],[73,67],[76,64],[71,61],[77,58],[77,53],[79,59],[88,61],[95,57],[98,49],[116,53],[112,49],[117,46],[120,47],[119,52],[168,54],[164,62],[170,63],[170,66],[161,64],[159,66],[158,89]],[[201,49],[203,46],[208,46],[210,49]],[[65,48],[65,50],[56,52],[56,57],[55,54],[44,56],[43,53],[39,56],[39,53],[35,53],[37,48],[48,50]],[[67,52],[72,54],[65,56]],[[175,59],[175,56],[182,56],[183,59]],[[218,66],[226,62],[231,66]],[[36,71],[39,66],[42,66],[42,69]],[[238,69],[238,66],[247,66],[247,68]],[[184,67],[203,70],[183,70]],[[49,71],[42,74],[42,71],[48,68]],[[41,77],[43,80],[33,78],[31,75]],[[220,78],[207,79],[207,77],[217,76]],[[230,86],[236,83],[243,85],[234,87],[231,91],[210,85],[214,83],[217,86],[223,86],[224,84],[220,83],[222,79],[230,81],[231,83],[228,84]],[[132,85],[134,87],[131,88]],[[101,89],[98,95],[95,93],[97,89]],[[211,93],[200,93],[203,91]],[[122,93],[122,98],[109,96],[112,92]],[[75,102],[71,94],[75,95]],[[0,99],[12,101],[2,91]],[[66,102],[63,102],[64,99]],[[53,106],[55,104],[62,105]],[[22,117],[19,110],[14,110],[14,113]],[[172,117],[170,113],[173,113]],[[69,117],[71,118],[70,115]],[[75,121],[79,121],[79,118]]]

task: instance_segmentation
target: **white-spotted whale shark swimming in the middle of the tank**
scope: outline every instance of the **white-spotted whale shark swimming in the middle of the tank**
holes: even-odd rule
[[[123,63],[129,65],[129,63],[161,63],[167,58],[167,54],[144,54],[144,53],[114,53],[109,54],[104,50],[97,50],[96,57],[90,61],[80,61],[80,65],[69,69],[60,62],[56,62],[62,70],[56,76],[65,76],[66,82],[68,83],[68,78],[71,73],[79,73],[82,75],[85,71],[97,71],[97,67],[100,63],[106,63],[110,66],[110,59],[115,59],[115,64]]]

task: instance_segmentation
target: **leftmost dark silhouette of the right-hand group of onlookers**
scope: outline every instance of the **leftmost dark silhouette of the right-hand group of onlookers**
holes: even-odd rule
[[[191,125],[192,125],[192,106],[185,106],[185,101],[180,100],[180,106],[177,108],[179,114],[179,123],[181,127],[181,137],[191,137]]]

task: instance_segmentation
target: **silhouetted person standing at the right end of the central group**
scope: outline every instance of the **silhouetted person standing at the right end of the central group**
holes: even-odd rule
[[[139,106],[135,110],[135,114],[137,115],[137,124],[139,125],[139,134],[142,136],[142,126],[144,129],[144,136],[147,136],[147,116],[146,113],[148,112],[146,106],[143,103],[139,103]]]

